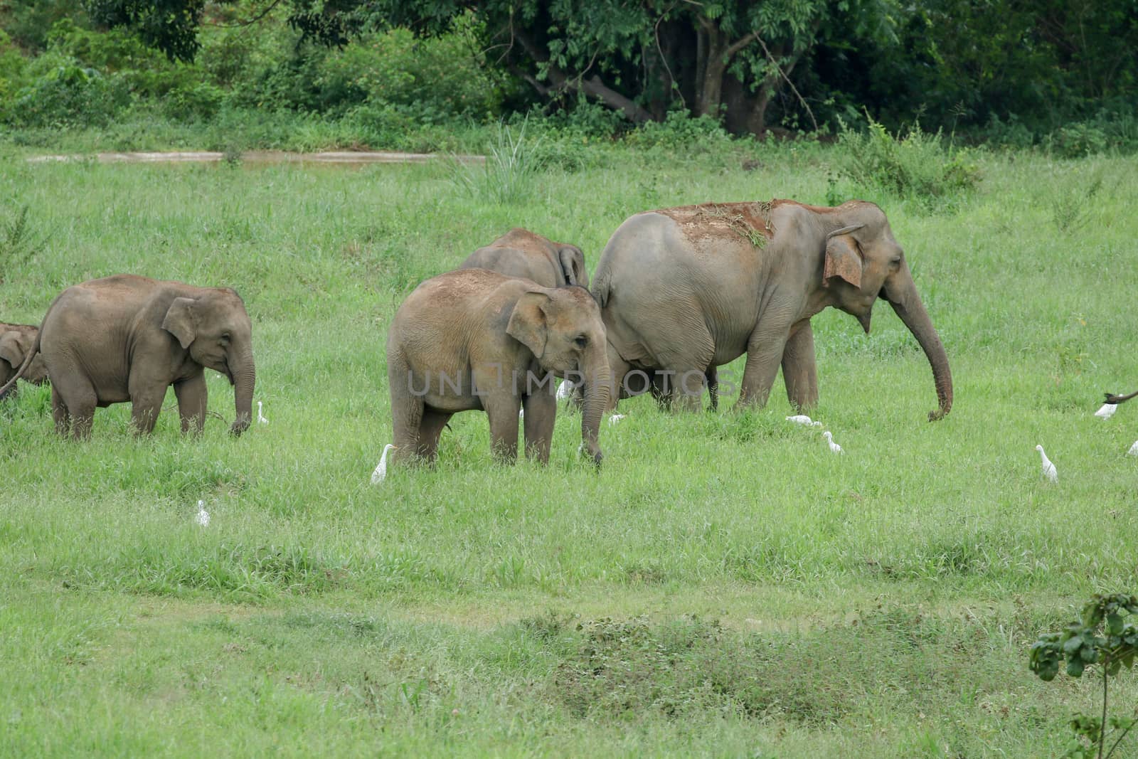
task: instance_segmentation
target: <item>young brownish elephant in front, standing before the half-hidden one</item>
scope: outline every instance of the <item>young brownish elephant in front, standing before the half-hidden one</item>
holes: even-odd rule
[[[553,376],[579,373],[591,393],[582,438],[601,463],[597,434],[609,402],[604,324],[588,290],[544,288],[481,269],[440,274],[407,296],[387,335],[396,459],[434,461],[443,426],[459,411],[485,411],[494,453],[550,459],[556,415]]]

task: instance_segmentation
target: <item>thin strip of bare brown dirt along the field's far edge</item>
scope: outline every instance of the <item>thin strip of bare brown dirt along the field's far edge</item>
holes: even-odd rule
[[[330,150],[324,152],[284,152],[283,150],[250,150],[239,156],[250,164],[424,164],[444,156],[435,152],[386,152],[358,150]],[[454,156],[464,164],[484,163],[484,156]],[[88,155],[31,156],[31,164],[69,160],[94,160],[100,164],[216,164],[226,159],[226,154],[208,150],[174,152],[96,152]]]

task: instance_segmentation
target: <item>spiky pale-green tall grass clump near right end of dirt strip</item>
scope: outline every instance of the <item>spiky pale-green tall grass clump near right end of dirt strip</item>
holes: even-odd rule
[[[527,125],[522,123],[514,132],[500,123],[494,141],[487,146],[486,162],[480,166],[468,166],[452,157],[451,181],[471,197],[498,205],[529,197],[544,162],[539,152],[542,138],[527,139]]]

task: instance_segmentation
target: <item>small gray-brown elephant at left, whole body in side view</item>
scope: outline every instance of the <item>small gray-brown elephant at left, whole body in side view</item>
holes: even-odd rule
[[[206,366],[234,386],[237,419],[230,431],[240,435],[249,426],[256,382],[253,324],[245,303],[229,288],[132,274],[75,284],[48,308],[35,348],[51,377],[52,416],[60,435],[69,429],[76,439],[88,437],[97,406],[126,401],[135,431],[149,434],[171,385],[182,431],[200,432]],[[25,360],[20,372],[30,363]]]

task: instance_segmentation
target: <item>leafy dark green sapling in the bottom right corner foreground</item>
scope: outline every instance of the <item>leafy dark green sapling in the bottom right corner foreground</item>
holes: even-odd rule
[[[1061,633],[1044,633],[1031,646],[1031,671],[1045,682],[1055,679],[1064,659],[1071,677],[1082,677],[1091,665],[1102,666],[1103,716],[1080,713],[1071,719],[1075,739],[1067,746],[1066,757],[1104,759],[1103,751],[1111,737],[1113,743],[1105,754],[1110,758],[1122,739],[1138,725],[1138,712],[1132,717],[1111,717],[1110,736],[1106,733],[1108,678],[1116,676],[1122,667],[1133,669],[1138,654],[1138,626],[1127,620],[1131,614],[1138,614],[1138,596],[1096,593],[1082,608],[1078,621],[1070,622]]]

